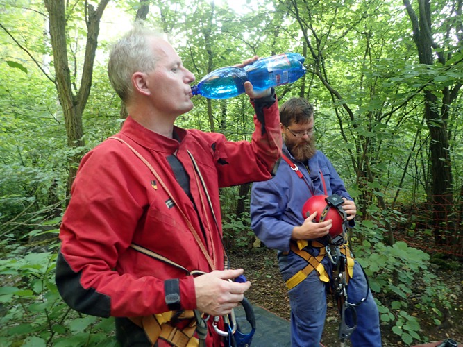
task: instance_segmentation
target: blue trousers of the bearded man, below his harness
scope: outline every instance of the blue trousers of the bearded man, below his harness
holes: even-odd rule
[[[327,257],[322,260],[330,274],[331,264]],[[278,266],[283,280],[288,280],[308,263],[293,252],[278,255]],[[319,279],[317,271],[312,271],[303,282],[289,289],[291,305],[291,343],[293,347],[319,347],[326,319],[326,295],[328,284]],[[358,303],[357,328],[350,339],[353,347],[380,347],[381,333],[378,307],[367,285],[360,264],[355,262],[353,278],[348,282],[347,295],[349,303]],[[353,326],[351,315],[346,314],[348,326]]]

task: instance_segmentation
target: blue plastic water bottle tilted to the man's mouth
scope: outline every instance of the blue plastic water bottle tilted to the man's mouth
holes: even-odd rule
[[[228,99],[244,93],[246,81],[257,91],[293,83],[305,74],[304,60],[299,53],[284,53],[256,60],[245,67],[222,67],[192,86],[192,94],[208,99]]]

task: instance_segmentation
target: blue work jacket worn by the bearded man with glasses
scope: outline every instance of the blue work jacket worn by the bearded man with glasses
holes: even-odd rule
[[[290,158],[306,178],[302,178],[281,160],[276,175],[264,182],[255,182],[251,190],[251,228],[255,235],[269,248],[289,251],[294,226],[304,221],[302,207],[312,195],[338,194],[353,200],[344,187],[343,180],[337,174],[330,160],[321,151],[317,151],[308,162],[308,169],[289,154],[283,144],[283,154]],[[323,188],[326,183],[326,192]],[[349,223],[353,226],[353,221]]]

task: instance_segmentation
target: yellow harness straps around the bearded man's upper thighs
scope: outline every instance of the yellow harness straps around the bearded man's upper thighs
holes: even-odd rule
[[[322,282],[330,282],[330,278],[328,276],[328,273],[326,273],[325,266],[321,264],[321,260],[323,260],[323,257],[326,255],[326,248],[323,244],[317,242],[317,241],[312,241],[311,245],[314,247],[319,247],[320,248],[320,253],[317,255],[317,257],[313,257],[308,253],[307,251],[304,251],[303,248],[305,246],[308,246],[308,241],[306,240],[298,240],[298,242],[291,243],[291,251],[302,257],[304,260],[308,262],[307,266],[305,266],[304,269],[298,271],[297,273],[292,276],[292,278],[289,278],[289,280],[286,281],[286,287],[287,289],[292,289],[296,287],[299,283],[301,283],[307,276],[309,276],[312,271],[317,271],[319,278]],[[340,251],[342,254],[346,256],[347,260],[347,276],[346,276],[346,282],[348,282],[349,278],[353,276],[353,266],[354,266],[354,260],[351,255],[351,252],[349,251],[348,244],[344,244],[339,247]]]

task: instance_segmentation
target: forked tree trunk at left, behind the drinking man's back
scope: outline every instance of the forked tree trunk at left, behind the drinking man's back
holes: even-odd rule
[[[69,68],[67,37],[69,26],[68,3],[65,0],[44,0],[49,14],[49,31],[53,49],[53,65],[55,67],[56,90],[62,112],[65,117],[67,144],[75,149],[84,145],[82,115],[90,95],[92,86],[93,65],[98,45],[100,20],[109,0],[101,0],[97,8],[85,1],[85,24],[87,27],[87,41],[85,45],[85,58],[81,70],[81,83],[79,87],[73,84],[74,76]],[[75,71],[76,72],[76,71]],[[74,87],[73,87],[74,86]],[[76,154],[69,162],[69,189],[77,172],[77,164],[81,153]]]

